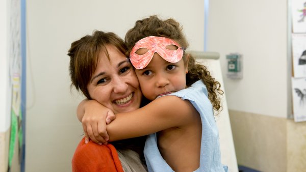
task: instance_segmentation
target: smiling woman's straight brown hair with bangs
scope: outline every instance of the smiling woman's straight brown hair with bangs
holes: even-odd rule
[[[72,42],[68,50],[71,86],[73,85],[78,91],[81,90],[88,99],[91,98],[87,85],[97,67],[99,54],[105,52],[110,60],[107,45],[114,45],[120,52],[126,53],[127,48],[120,37],[112,32],[102,31],[94,31],[92,35],[86,35]]]

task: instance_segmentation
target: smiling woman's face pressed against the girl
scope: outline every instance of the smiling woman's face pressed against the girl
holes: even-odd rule
[[[105,52],[99,54],[97,68],[87,85],[90,97],[114,113],[138,109],[142,94],[133,66],[115,46],[106,47],[110,61]]]

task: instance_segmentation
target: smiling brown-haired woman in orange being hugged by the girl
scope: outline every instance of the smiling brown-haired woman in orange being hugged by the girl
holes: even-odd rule
[[[142,94],[125,52],[123,40],[114,33],[95,31],[73,42],[68,51],[71,85],[115,113],[138,109]],[[97,145],[82,139],[72,158],[72,171],[146,171],[144,141],[139,137]]]

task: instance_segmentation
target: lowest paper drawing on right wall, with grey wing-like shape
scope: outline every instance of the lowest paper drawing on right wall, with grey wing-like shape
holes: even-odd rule
[[[292,98],[294,121],[306,121],[306,78],[292,78]]]

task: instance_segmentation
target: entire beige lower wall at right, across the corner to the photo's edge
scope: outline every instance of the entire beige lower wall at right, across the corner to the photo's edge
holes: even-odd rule
[[[260,171],[306,169],[306,122],[230,110],[237,162]]]

